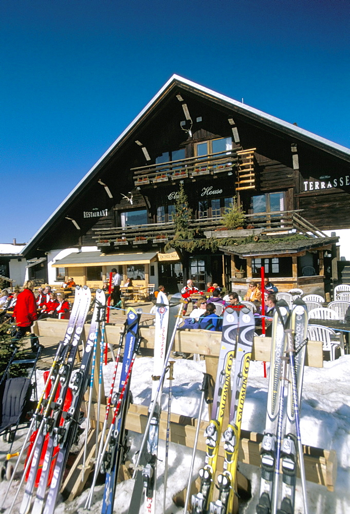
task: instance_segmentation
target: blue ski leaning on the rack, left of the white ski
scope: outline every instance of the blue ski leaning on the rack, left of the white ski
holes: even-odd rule
[[[121,370],[118,395],[120,396],[123,390],[128,368],[131,364],[135,347],[139,346],[138,341],[138,326],[140,315],[132,308],[127,309],[127,328],[125,336],[125,348],[123,366]],[[117,477],[119,467],[123,462],[126,454],[126,432],[125,432],[125,418],[130,403],[130,380],[128,380],[127,387],[124,393],[124,400],[121,405],[120,414],[116,419],[112,428],[112,437],[110,438],[108,451],[105,453],[103,461],[103,469],[106,472],[105,487],[103,492],[102,501],[102,514],[112,514],[115,488],[117,485]]]

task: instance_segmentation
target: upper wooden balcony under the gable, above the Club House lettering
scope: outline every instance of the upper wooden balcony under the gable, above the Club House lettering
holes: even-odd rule
[[[236,189],[254,189],[254,148],[250,150],[228,150],[200,157],[149,164],[132,168],[135,186],[152,184],[157,187],[160,182],[175,182],[179,179],[195,180],[202,175],[232,175],[235,173]]]

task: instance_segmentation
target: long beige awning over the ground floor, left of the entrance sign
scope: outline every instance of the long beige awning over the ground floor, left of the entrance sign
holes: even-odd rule
[[[150,264],[156,259],[158,252],[150,253],[101,253],[78,252],[70,253],[63,259],[52,264],[53,268],[67,268],[78,266],[116,266],[122,264]]]

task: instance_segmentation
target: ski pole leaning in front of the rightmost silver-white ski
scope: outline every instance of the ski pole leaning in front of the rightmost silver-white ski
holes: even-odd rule
[[[304,452],[303,452],[303,445],[301,442],[299,399],[298,399],[296,368],[295,368],[295,362],[294,362],[294,352],[295,352],[294,339],[293,339],[292,331],[290,328],[287,329],[285,331],[285,333],[286,333],[286,338],[287,338],[286,352],[289,355],[289,362],[290,362],[290,375],[291,375],[292,393],[293,393],[294,416],[296,418],[300,478],[301,478],[301,485],[302,485],[302,489],[303,489],[303,498],[304,498],[304,514],[308,514],[307,502],[306,502],[306,478],[305,478]]]

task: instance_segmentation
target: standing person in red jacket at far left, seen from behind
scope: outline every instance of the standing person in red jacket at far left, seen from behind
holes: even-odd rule
[[[23,291],[17,297],[17,302],[13,310],[13,317],[16,320],[17,332],[15,339],[21,339],[26,332],[30,332],[33,321],[38,319],[36,314],[36,300],[33,293],[34,283],[27,280],[23,284]]]

